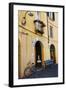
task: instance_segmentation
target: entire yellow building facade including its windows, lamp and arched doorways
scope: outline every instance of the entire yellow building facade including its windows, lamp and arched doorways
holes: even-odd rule
[[[18,11],[18,73],[24,77],[28,64],[36,67],[46,60],[58,64],[58,13]]]

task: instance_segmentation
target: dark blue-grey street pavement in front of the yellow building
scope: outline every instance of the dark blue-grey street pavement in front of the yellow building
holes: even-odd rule
[[[46,68],[36,68],[35,66],[33,66],[31,76],[25,77],[25,79],[47,77],[58,77],[58,64],[52,64],[50,66],[47,66]]]

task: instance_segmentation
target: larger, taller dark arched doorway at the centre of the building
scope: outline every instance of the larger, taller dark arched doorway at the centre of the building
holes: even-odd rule
[[[36,67],[42,66],[42,43],[37,41],[35,44],[35,59],[36,59]]]

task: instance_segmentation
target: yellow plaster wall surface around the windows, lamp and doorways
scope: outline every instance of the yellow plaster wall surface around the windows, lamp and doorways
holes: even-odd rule
[[[25,12],[26,11],[19,11],[18,13],[18,25],[22,25],[21,22],[22,22],[22,19],[25,15]],[[50,59],[50,46],[48,44],[48,32],[47,32],[47,16],[46,16],[46,13],[44,12],[41,12],[40,13],[40,19],[41,21],[43,21],[43,23],[46,25],[46,27],[44,28],[44,34],[43,36],[40,36],[40,35],[36,35],[35,34],[35,26],[34,26],[34,19],[35,19],[35,12],[32,12],[34,14],[33,17],[30,17],[28,14],[26,15],[26,25],[24,25],[23,27],[28,29],[24,29],[22,27],[18,27],[18,30],[19,30],[19,37],[20,37],[20,41],[21,41],[21,55],[23,53],[23,48],[22,48],[22,45],[23,45],[23,41],[22,41],[22,32],[24,33],[27,33],[26,35],[26,50],[24,53],[26,53],[26,61],[23,62],[23,59],[22,59],[22,56],[21,56],[21,59],[20,59],[20,67],[21,68],[20,70],[20,77],[23,76],[24,74],[24,70],[25,68],[27,67],[27,64],[32,61],[32,53],[34,53],[34,63],[35,63],[35,48],[33,47],[32,45],[32,41],[38,39],[39,41],[42,42],[43,44],[43,48],[44,48],[44,61],[47,60],[47,59]],[[49,37],[49,40],[50,40],[50,44],[54,44],[55,45],[55,49],[56,49],[56,62],[58,63],[58,27],[57,27],[57,24],[55,22],[52,22],[51,20],[49,20],[48,22],[48,28],[49,26],[53,26],[53,39]],[[30,32],[32,31],[32,32]]]

